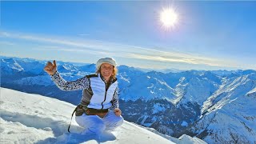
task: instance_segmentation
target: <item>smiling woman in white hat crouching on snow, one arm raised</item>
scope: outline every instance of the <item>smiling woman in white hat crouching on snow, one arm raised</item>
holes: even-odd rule
[[[61,90],[83,90],[76,108],[75,120],[85,130],[82,134],[101,134],[122,125],[122,111],[118,108],[118,72],[114,58],[101,58],[96,64],[96,74],[86,75],[74,82],[66,82],[57,71],[57,65],[47,62],[44,70],[50,74]],[[109,110],[110,107],[114,109]]]

